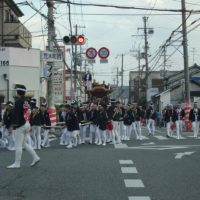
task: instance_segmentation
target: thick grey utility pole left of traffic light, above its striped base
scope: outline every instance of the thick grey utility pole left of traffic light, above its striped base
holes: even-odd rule
[[[48,50],[54,50],[54,40],[55,40],[55,26],[54,26],[54,2],[53,0],[46,0],[48,7]],[[52,66],[52,75],[48,80],[48,106],[49,108],[54,107],[54,90],[53,90],[53,81],[54,81],[54,63],[48,62]]]

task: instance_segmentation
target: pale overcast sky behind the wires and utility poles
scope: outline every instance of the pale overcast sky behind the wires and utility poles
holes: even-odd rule
[[[23,0],[15,0],[16,3],[23,2]],[[29,1],[30,2],[30,1]],[[161,9],[181,9],[180,0],[71,0],[77,3],[93,3],[93,4],[106,4],[117,6],[134,6],[142,8],[161,8]],[[44,5],[43,0],[33,0],[32,3],[38,9]],[[57,32],[57,39],[61,39],[65,35],[69,35],[69,18],[68,7],[66,4],[56,4],[55,10],[55,26]],[[186,1],[186,8],[188,10],[200,10],[200,0]],[[35,11],[29,6],[20,6],[24,12],[24,17],[20,20],[25,22],[29,19]],[[44,6],[41,12],[47,14],[47,7]],[[110,56],[107,64],[100,64],[99,58],[96,59],[96,64],[89,67],[94,71],[94,78],[102,82],[105,80],[107,83],[113,83],[116,80],[117,67],[121,70],[121,54],[124,54],[124,85],[128,85],[129,71],[134,70],[138,66],[138,61],[134,57],[136,51],[141,48],[143,51],[144,37],[143,37],[143,16],[148,17],[148,28],[153,28],[154,33],[149,35],[149,60],[151,60],[155,52],[164,42],[169,38],[170,34],[181,24],[181,14],[175,12],[156,12],[134,9],[116,9],[105,7],[93,6],[74,6],[71,5],[71,20],[72,25],[79,26],[78,33],[84,34],[87,38],[87,43],[84,49],[94,47],[97,50],[101,47],[107,47],[110,50]],[[104,14],[104,15],[88,15],[88,14]],[[116,15],[106,15],[116,14]],[[132,14],[132,15],[127,15]],[[155,15],[157,14],[157,15]],[[159,14],[159,15],[158,15]],[[165,14],[165,15],[161,15]],[[170,14],[170,15],[166,15]],[[176,15],[174,15],[176,14]],[[195,26],[200,24],[200,14],[192,14],[187,20],[188,31],[192,30]],[[193,25],[193,21],[197,20]],[[199,20],[199,21],[198,21]],[[25,26],[32,32],[33,36],[47,34],[47,22],[39,14],[32,17],[25,23]],[[139,28],[139,29],[138,29]],[[181,29],[179,29],[180,31]],[[190,31],[188,34],[188,51],[189,51],[189,64],[199,64],[200,57],[200,28],[197,27]],[[174,39],[181,36],[179,32]],[[134,36],[133,36],[134,35]],[[137,36],[138,35],[138,36]],[[47,37],[34,37],[33,48],[44,49]],[[181,39],[167,48],[168,70],[181,70],[183,69],[183,55]],[[60,45],[63,45],[62,42]],[[175,52],[176,48],[179,49]],[[69,48],[68,46],[66,48]],[[141,61],[144,64],[144,61]],[[150,68],[160,70],[162,68],[163,58],[161,57],[157,65],[154,61],[150,63]],[[69,62],[69,55],[67,56],[67,63]],[[156,60],[155,60],[156,63]]]

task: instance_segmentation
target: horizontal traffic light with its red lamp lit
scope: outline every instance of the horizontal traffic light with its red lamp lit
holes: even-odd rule
[[[84,45],[85,37],[84,35],[64,36],[63,42],[66,45]]]

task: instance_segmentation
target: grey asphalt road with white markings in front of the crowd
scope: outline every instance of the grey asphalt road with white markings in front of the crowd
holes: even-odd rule
[[[161,139],[74,149],[55,140],[38,152],[37,166],[29,167],[24,151],[22,167],[14,170],[6,169],[14,152],[0,150],[0,200],[199,200],[200,140],[190,135],[164,139],[160,129]]]

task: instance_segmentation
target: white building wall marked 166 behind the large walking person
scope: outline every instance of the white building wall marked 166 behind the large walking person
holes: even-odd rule
[[[39,100],[40,76],[39,49],[0,47],[0,102],[15,99],[16,84],[26,86],[27,98]]]

